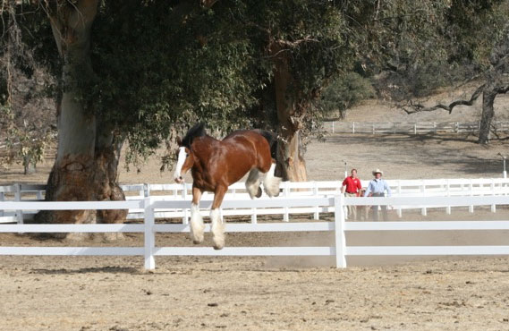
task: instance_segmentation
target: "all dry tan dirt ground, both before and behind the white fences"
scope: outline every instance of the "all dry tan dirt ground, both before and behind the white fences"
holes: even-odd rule
[[[465,110],[466,112],[466,110]],[[466,114],[466,113],[465,113]],[[463,114],[463,116],[466,116]],[[349,117],[350,116],[350,119]],[[347,121],[391,120],[401,114],[373,103]],[[357,116],[357,117],[355,117]],[[398,117],[399,116],[399,117]],[[355,119],[353,119],[355,117]],[[465,119],[466,120],[466,119]],[[401,121],[401,119],[400,119]],[[465,139],[466,138],[466,139]],[[344,162],[363,179],[376,167],[388,179],[500,177],[505,141],[477,145],[460,135],[334,135],[313,141],[310,180],[343,177]],[[0,184],[47,180],[49,163],[22,176],[0,169]],[[122,171],[121,182],[170,182],[149,160],[140,173]],[[458,208],[452,216],[403,212],[403,220],[507,219],[488,208]],[[331,216],[323,215],[323,220]],[[394,211],[391,217],[396,219]],[[308,216],[292,221],[310,221]],[[263,219],[261,220],[263,221]],[[270,221],[277,221],[270,219]],[[366,233],[348,245],[509,245],[509,232]],[[433,239],[431,239],[433,238]],[[126,233],[108,242],[84,242],[1,233],[3,246],[140,246]],[[230,246],[327,245],[330,233],[230,233]],[[210,238],[206,235],[206,242]],[[191,245],[183,234],[159,234],[158,246]],[[160,257],[143,269],[141,257],[0,256],[0,330],[509,330],[509,257],[327,259]]]

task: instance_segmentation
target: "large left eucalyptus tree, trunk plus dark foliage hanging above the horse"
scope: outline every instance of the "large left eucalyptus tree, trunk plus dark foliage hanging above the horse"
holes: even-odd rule
[[[212,4],[38,3],[56,45],[59,79],[58,149],[46,199],[124,199],[117,173],[124,141],[136,163],[194,121],[225,131],[249,122],[240,115],[254,101],[249,45],[216,33],[222,26],[207,10]],[[50,58],[48,52],[41,51]],[[121,222],[124,216],[45,212],[38,220]]]

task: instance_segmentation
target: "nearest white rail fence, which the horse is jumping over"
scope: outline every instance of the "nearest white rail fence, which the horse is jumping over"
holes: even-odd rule
[[[479,231],[509,230],[509,221],[454,221],[454,222],[345,222],[344,207],[348,205],[392,206],[483,206],[509,205],[509,197],[392,197],[328,198],[293,197],[284,199],[225,200],[225,208],[294,208],[328,206],[335,208],[334,222],[227,224],[227,232],[334,232],[333,246],[308,247],[156,247],[156,233],[189,232],[189,225],[156,224],[155,211],[165,208],[188,208],[188,201],[165,201],[150,197],[131,201],[44,202],[4,201],[0,210],[75,210],[75,209],[131,209],[141,208],[143,224],[127,225],[0,225],[0,233],[143,233],[143,247],[6,247],[0,246],[0,255],[67,255],[67,256],[143,256],[145,268],[156,267],[156,256],[334,256],[336,267],[346,267],[349,256],[423,256],[423,255],[509,255],[505,245],[469,246],[347,246],[345,233],[362,231]],[[202,201],[200,208],[209,208],[210,201]],[[209,231],[207,227],[206,231]],[[419,235],[419,234],[417,234]]]

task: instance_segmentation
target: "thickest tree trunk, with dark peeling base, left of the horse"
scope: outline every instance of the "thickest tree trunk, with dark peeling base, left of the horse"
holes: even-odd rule
[[[94,72],[90,61],[90,28],[98,0],[60,4],[49,13],[63,62],[62,95],[57,101],[58,149],[47,182],[46,199],[87,201],[124,199],[116,184],[121,142],[112,128],[98,122],[92,105],[79,95],[78,84],[88,84]],[[95,210],[41,212],[42,223],[119,222],[125,211]]]

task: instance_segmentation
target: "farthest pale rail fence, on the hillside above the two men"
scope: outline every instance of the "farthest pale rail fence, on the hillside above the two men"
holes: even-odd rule
[[[324,128],[332,133],[462,133],[479,132],[480,122],[324,122]],[[494,121],[492,130],[509,132],[509,122]]]

